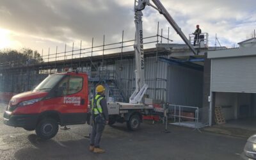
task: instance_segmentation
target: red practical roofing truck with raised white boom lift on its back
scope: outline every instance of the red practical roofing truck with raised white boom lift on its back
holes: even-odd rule
[[[134,1],[136,42],[135,50],[135,81],[136,89],[129,103],[109,102],[109,124],[126,122],[127,127],[136,130],[140,127],[143,115],[153,109],[143,104],[142,99],[147,92],[145,83],[145,59],[143,52],[142,10],[152,6],[170,22],[182,40],[197,54],[193,45],[182,33],[179,26],[166,11],[159,0]],[[36,88],[29,92],[19,93],[12,97],[4,112],[4,124],[22,127],[27,131],[36,131],[36,135],[44,140],[54,137],[60,126],[85,124],[88,115],[88,76],[81,72],[65,72],[51,74]]]

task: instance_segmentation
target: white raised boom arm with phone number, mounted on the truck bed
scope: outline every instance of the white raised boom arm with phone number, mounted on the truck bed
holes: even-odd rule
[[[143,52],[143,26],[142,26],[142,10],[145,7],[152,6],[159,13],[163,14],[166,20],[172,25],[173,29],[177,31],[182,40],[188,45],[189,49],[194,54],[198,52],[195,50],[193,45],[189,42],[188,38],[181,31],[179,26],[176,24],[175,20],[171,17],[171,15],[166,11],[163,4],[159,0],[152,0],[156,6],[153,6],[149,0],[135,0],[134,1],[134,12],[135,12],[135,26],[136,26],[136,44],[134,44],[135,50],[135,62],[136,62],[136,70],[135,70],[135,80],[136,80],[136,89],[134,93],[132,93],[130,97],[130,103],[137,104],[141,102],[143,95],[147,92],[148,85],[145,83],[145,60],[144,60],[144,52]]]

